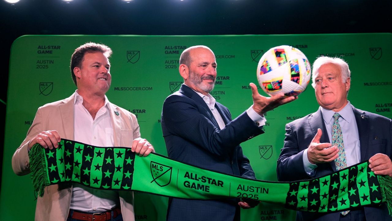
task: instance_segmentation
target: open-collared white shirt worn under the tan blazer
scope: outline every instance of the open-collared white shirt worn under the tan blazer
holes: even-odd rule
[[[98,110],[95,119],[83,106],[83,98],[75,92],[74,139],[77,142],[100,147],[113,147],[113,125],[109,112],[109,100]],[[82,212],[103,212],[115,208],[119,203],[118,191],[97,190],[73,183],[70,209]]]

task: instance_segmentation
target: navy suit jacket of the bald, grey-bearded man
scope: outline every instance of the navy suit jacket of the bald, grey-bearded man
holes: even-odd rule
[[[186,85],[167,97],[162,109],[162,132],[170,158],[254,179],[240,143],[263,133],[246,112],[231,120],[229,110],[215,103],[226,126],[220,130],[205,101]],[[238,199],[200,201],[169,199],[168,220],[239,220]],[[237,210],[237,211],[236,211]]]

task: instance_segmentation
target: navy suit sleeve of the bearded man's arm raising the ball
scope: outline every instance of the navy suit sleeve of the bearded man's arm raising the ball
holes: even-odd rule
[[[216,156],[226,156],[241,142],[263,133],[246,112],[220,130],[203,111],[190,98],[169,96],[163,103],[162,119],[170,134],[180,136]]]

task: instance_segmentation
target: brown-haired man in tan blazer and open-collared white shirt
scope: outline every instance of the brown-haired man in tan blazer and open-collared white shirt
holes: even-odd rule
[[[97,146],[131,147],[140,156],[154,151],[147,140],[140,138],[136,116],[110,103],[105,96],[111,84],[111,53],[109,47],[95,43],[75,50],[71,74],[78,90],[69,98],[38,109],[25,140],[12,157],[16,175],[30,173],[28,152],[34,144],[57,148],[60,138]],[[133,221],[133,193],[66,183],[46,187],[44,196],[37,199],[35,220],[97,218]]]

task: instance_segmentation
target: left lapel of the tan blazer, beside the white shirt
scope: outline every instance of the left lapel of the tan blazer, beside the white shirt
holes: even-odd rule
[[[58,106],[60,109],[63,129],[67,139],[74,139],[74,99],[75,93],[71,97],[64,99]]]

